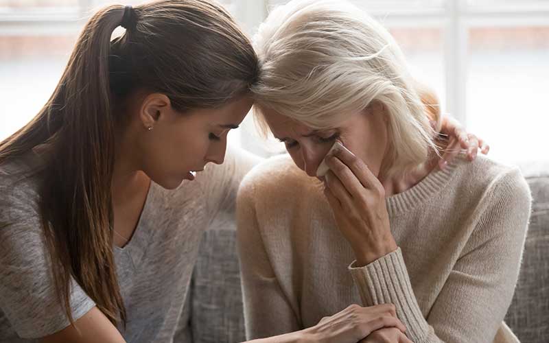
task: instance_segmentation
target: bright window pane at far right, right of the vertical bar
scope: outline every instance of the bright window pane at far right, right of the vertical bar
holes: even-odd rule
[[[471,29],[469,51],[469,130],[490,143],[494,158],[546,158],[549,27]]]

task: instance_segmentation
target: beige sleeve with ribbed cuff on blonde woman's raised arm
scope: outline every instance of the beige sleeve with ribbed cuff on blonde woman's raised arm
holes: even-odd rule
[[[530,215],[530,191],[518,169],[504,174],[427,316],[410,286],[400,248],[349,270],[365,306],[393,303],[415,343],[493,342],[517,283]]]

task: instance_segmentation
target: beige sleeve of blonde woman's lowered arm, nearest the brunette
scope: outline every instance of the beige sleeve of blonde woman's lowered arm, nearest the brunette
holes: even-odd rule
[[[253,182],[243,182],[237,198],[237,239],[246,338],[266,338],[301,329],[296,311],[274,273],[261,237]]]

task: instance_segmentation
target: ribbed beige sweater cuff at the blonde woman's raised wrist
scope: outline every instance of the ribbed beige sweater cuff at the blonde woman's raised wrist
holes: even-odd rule
[[[349,272],[363,305],[394,304],[398,318],[406,325],[408,337],[414,342],[423,342],[429,324],[417,304],[400,248],[364,267],[355,268],[355,263],[349,265]]]

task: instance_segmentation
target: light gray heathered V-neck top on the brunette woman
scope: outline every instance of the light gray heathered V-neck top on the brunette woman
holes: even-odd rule
[[[127,342],[172,342],[202,232],[234,211],[237,187],[257,161],[229,150],[223,165],[209,165],[196,180],[173,191],[152,183],[132,239],[114,247],[126,305]],[[56,298],[36,203],[38,177],[30,154],[0,167],[0,343],[37,342],[69,324]],[[73,281],[78,319],[95,303]]]

